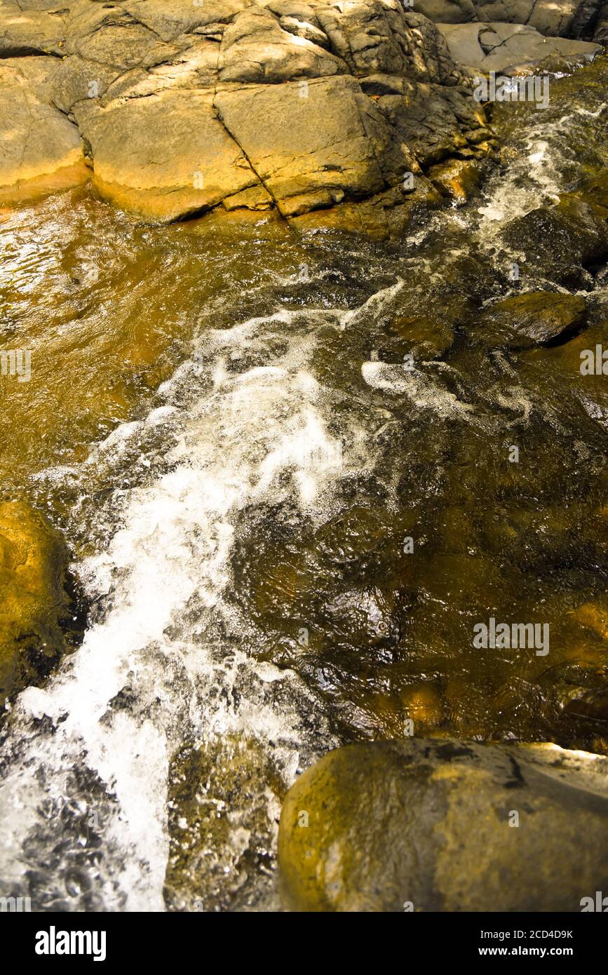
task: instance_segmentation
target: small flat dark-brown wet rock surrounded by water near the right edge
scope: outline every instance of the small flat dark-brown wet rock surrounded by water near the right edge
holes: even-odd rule
[[[483,316],[479,338],[484,343],[512,349],[566,340],[583,324],[586,307],[585,298],[577,294],[516,294],[491,305]]]

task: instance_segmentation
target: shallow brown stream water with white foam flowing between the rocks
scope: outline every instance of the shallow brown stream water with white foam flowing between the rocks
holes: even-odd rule
[[[565,291],[511,282],[502,238],[602,164],[605,67],[551,85],[496,111],[482,196],[399,244],[142,227],[86,190],[3,215],[4,345],[32,350],[2,380],[5,494],[64,531],[89,613],[4,722],[7,894],[277,908],[285,789],[337,744],[411,721],[606,750],[566,707],[607,663],[608,395],[579,370],[605,273],[566,343],[488,348],[481,322]],[[475,648],[490,617],[548,623],[549,652]]]

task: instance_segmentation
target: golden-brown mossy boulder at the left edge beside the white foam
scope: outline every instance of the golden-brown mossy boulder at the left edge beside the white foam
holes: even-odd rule
[[[0,703],[46,677],[64,650],[68,552],[22,501],[0,504]]]

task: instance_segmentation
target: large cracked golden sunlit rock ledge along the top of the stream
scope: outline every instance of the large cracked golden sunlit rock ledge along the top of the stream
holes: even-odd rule
[[[488,29],[500,41],[509,25],[460,21],[505,12],[447,6],[459,13],[400,0],[7,0],[0,202],[92,177],[101,199],[150,222],[273,211],[399,234],[441,200],[430,167],[470,170],[497,145],[472,68],[489,63]],[[507,60],[536,58],[531,34],[545,40],[515,30]],[[555,44],[599,50],[568,40],[548,54]]]

